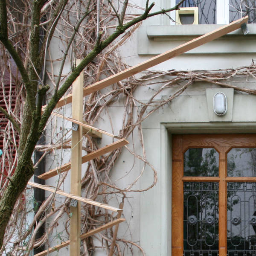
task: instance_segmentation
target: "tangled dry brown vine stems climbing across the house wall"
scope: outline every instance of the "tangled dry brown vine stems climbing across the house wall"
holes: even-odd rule
[[[44,6],[46,12],[52,12],[55,9],[54,0],[49,1],[47,6]],[[58,26],[58,31],[56,32],[56,37],[61,38],[61,43],[64,48],[70,38],[73,27],[70,20],[74,17],[78,18],[82,4],[84,1],[76,2],[75,6],[67,6],[65,9],[66,15],[61,17],[61,23]],[[96,6],[96,1],[93,2]],[[24,17],[23,20],[16,20],[12,17],[12,12],[9,12],[9,20],[12,20],[13,31],[10,33],[10,38],[14,41],[15,45],[20,45],[18,43],[23,42],[23,49],[19,51],[23,54],[28,52],[29,45],[26,44],[27,39],[27,25],[26,20],[29,17],[26,15],[29,11],[30,6],[26,1],[23,2],[24,5]],[[83,8],[86,6],[83,6]],[[11,7],[10,7],[11,8]],[[113,17],[114,13],[108,5],[101,3],[101,20],[100,28],[102,31],[102,36],[108,34],[108,29],[113,27]],[[69,12],[71,11],[71,12]],[[136,15],[135,15],[136,16]],[[125,20],[131,20],[134,15],[125,16]],[[23,21],[23,23],[22,23]],[[116,41],[111,45],[105,52],[102,52],[90,65],[84,70],[84,77],[86,84],[91,84],[95,81],[100,80],[102,77],[110,76],[113,73],[118,73],[124,70],[127,66],[122,62],[117,48],[119,45],[124,44],[133,32],[137,29],[139,25],[134,26],[119,41]],[[73,63],[73,57],[81,58],[93,48],[96,41],[95,35],[96,28],[96,11],[92,11],[92,16],[87,20],[86,24],[83,24],[76,35],[76,44],[74,44],[72,54],[69,53],[68,58],[70,63]],[[22,33],[21,33],[22,31]],[[58,35],[60,37],[58,37]],[[2,58],[1,58],[1,74],[2,74],[2,98],[1,103],[5,105],[8,113],[12,113],[15,119],[20,123],[20,118],[22,117],[22,102],[24,101],[24,91],[22,85],[20,84],[20,76],[17,70],[13,69],[12,59],[7,54],[5,49],[1,48]],[[25,54],[26,56],[26,54]],[[29,60],[26,59],[26,63]],[[47,62],[48,69],[45,70],[48,81],[52,82],[52,91],[55,86],[58,86],[58,81],[55,79],[55,67],[59,65],[60,59],[55,58],[54,52],[51,52],[50,48],[47,52]],[[10,68],[11,67],[11,68]],[[66,76],[61,76],[61,80],[64,80]],[[246,83],[239,83],[239,79],[244,79]],[[141,152],[143,155],[137,154],[133,148],[124,148],[127,150],[134,159],[143,161],[143,168],[137,173],[137,177],[134,177],[133,182],[129,182],[126,186],[120,187],[118,182],[114,182],[111,178],[111,172],[114,163],[119,159],[121,154],[121,149],[116,149],[110,154],[106,154],[100,158],[90,160],[86,166],[83,166],[83,177],[82,177],[82,195],[86,198],[92,200],[109,202],[109,201],[121,201],[120,197],[125,197],[125,205],[129,202],[130,193],[143,192],[151,189],[157,182],[157,172],[154,166],[151,165],[150,160],[147,159],[146,151],[143,142],[143,132],[141,124],[145,118],[150,116],[151,113],[156,112],[160,108],[164,108],[165,105],[169,104],[172,99],[182,94],[188,87],[192,87],[194,83],[205,82],[204,84],[211,87],[221,86],[234,88],[236,91],[241,93],[251,93],[256,94],[255,89],[250,89],[251,79],[256,79],[256,65],[254,63],[246,67],[239,67],[236,69],[227,70],[196,70],[196,71],[176,71],[170,70],[167,72],[163,71],[149,71],[145,72],[140,78],[131,77],[125,81],[120,81],[117,84],[113,84],[112,87],[107,88],[96,93],[87,96],[84,99],[84,120],[90,125],[96,125],[100,123],[101,119],[107,119],[110,122],[110,127],[114,134],[116,128],[113,126],[111,119],[111,113],[109,113],[108,108],[115,104],[116,102],[122,102],[122,123],[119,125],[119,137],[127,137],[131,140],[137,140],[133,136],[138,136],[140,139]],[[15,90],[7,89],[6,83],[13,84]],[[233,85],[233,81],[236,81],[236,86]],[[146,90],[150,92],[150,97],[148,100],[141,101],[137,99],[135,93],[137,90]],[[9,90],[9,91],[8,91]],[[11,92],[11,93],[10,93]],[[51,92],[50,92],[51,93]],[[161,97],[167,95],[167,97]],[[15,100],[15,108],[12,108],[10,102],[12,99]],[[58,110],[60,113],[68,113],[67,107]],[[136,112],[136,113],[135,113]],[[107,114],[105,114],[107,113]],[[46,135],[47,142],[46,145],[37,145],[36,150],[43,152],[47,156],[47,162],[51,165],[47,165],[47,169],[55,168],[60,166],[63,158],[68,158],[70,154],[70,126],[66,128],[67,122],[58,117],[52,117],[49,120],[47,126]],[[1,136],[3,137],[3,156],[1,158],[1,172],[0,172],[0,196],[3,190],[6,188],[9,182],[8,178],[11,177],[12,172],[15,169],[17,163],[17,145],[16,139],[17,134],[13,127],[13,124],[6,119],[2,119],[6,122],[6,126],[1,127]],[[106,120],[107,122],[107,120]],[[3,122],[2,122],[3,123]],[[99,127],[100,128],[100,127]],[[138,129],[136,131],[136,129]],[[133,143],[131,143],[132,145]],[[96,140],[92,139],[87,134],[84,135],[83,150],[86,152],[91,152],[99,148]],[[8,150],[7,150],[8,149]],[[85,154],[85,152],[84,152]],[[53,159],[55,161],[53,161]],[[67,159],[68,161],[69,159]],[[52,162],[51,162],[52,161]],[[8,164],[7,164],[8,163]],[[37,165],[38,163],[35,163]],[[137,183],[140,177],[143,175],[146,166],[152,170],[152,183],[145,188],[138,189]],[[60,188],[64,186],[64,181],[66,174],[61,174],[58,179],[58,184],[56,187]],[[120,177],[122,183],[125,184],[125,177]],[[33,247],[41,246],[46,244],[48,246],[50,243],[57,244],[60,241],[68,239],[68,228],[69,228],[69,205],[70,198],[59,198],[54,197],[54,195],[49,195],[49,197],[41,205],[40,209],[36,215],[34,215],[33,208],[33,198],[31,197],[30,189],[20,196],[17,201],[15,210],[13,211],[11,221],[9,222],[9,227],[6,232],[4,246],[1,253],[10,252],[9,255],[29,255]],[[26,194],[26,195],[25,195]],[[119,202],[116,202],[118,205]],[[44,212],[44,215],[41,213]],[[81,233],[86,233],[88,230],[94,229],[102,224],[112,221],[112,214],[101,211],[95,207],[83,204],[82,205],[82,230]],[[30,220],[30,221],[29,221]],[[29,222],[28,222],[29,221]],[[45,234],[38,240],[35,240],[35,235],[38,228],[46,224]],[[129,225],[129,221],[127,223]],[[62,228],[59,228],[62,226]],[[34,227],[34,229],[33,229]],[[58,231],[56,231],[58,228]],[[67,235],[65,236],[64,233]],[[108,230],[104,234],[96,236],[94,239],[91,237],[83,241],[83,246],[81,247],[81,255],[91,255],[91,253],[96,250],[97,247],[101,247],[102,250],[108,251],[109,245],[112,241],[113,230]],[[13,242],[13,237],[16,237],[16,241]],[[140,250],[143,254],[143,248],[140,247],[133,240],[132,234],[124,238],[118,238],[118,244],[116,245],[115,253],[116,255],[125,255],[127,251],[133,252],[134,248]],[[100,245],[99,245],[100,244]]]

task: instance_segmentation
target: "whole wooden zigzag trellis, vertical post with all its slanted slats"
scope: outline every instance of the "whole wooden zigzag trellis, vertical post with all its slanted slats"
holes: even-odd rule
[[[84,202],[87,204],[93,204],[98,207],[102,207],[105,209],[110,209],[118,213],[118,219],[116,221],[112,221],[111,223],[105,224],[102,227],[96,228],[95,230],[91,230],[86,234],[80,235],[80,203],[76,207],[70,207],[72,214],[71,221],[70,221],[70,240],[57,245],[55,247],[49,248],[48,250],[45,250],[44,252],[38,253],[35,256],[43,256],[47,255],[47,253],[53,252],[55,250],[58,250],[62,247],[65,247],[70,244],[70,256],[79,256],[80,255],[80,239],[84,239],[88,236],[92,236],[93,234],[96,234],[102,230],[105,230],[109,227],[112,227],[114,225],[116,226],[113,243],[111,246],[111,254],[113,255],[113,246],[115,243],[116,233],[118,224],[122,221],[125,221],[125,219],[120,218],[121,212],[122,212],[122,205],[119,208],[111,207],[107,204],[101,204],[96,201],[92,201],[90,199],[82,198],[81,197],[81,164],[85,163],[89,160],[92,160],[96,157],[99,157],[107,152],[113,151],[116,148],[122,147],[123,145],[128,144],[128,141],[125,139],[121,139],[116,135],[110,134],[106,131],[100,130],[98,128],[94,128],[91,125],[88,125],[82,121],[82,97],[89,95],[90,93],[96,92],[97,90],[101,90],[108,85],[111,85],[113,83],[116,83],[118,81],[121,81],[122,79],[128,78],[129,76],[132,76],[134,74],[137,74],[143,70],[148,69],[149,67],[153,67],[163,61],[169,60],[171,58],[174,58],[175,56],[178,56],[184,52],[187,52],[191,49],[194,49],[195,47],[198,47],[200,45],[203,45],[209,41],[212,41],[216,38],[219,38],[223,35],[226,35],[229,32],[232,32],[236,29],[239,29],[241,24],[247,23],[248,16],[243,17],[239,20],[233,21],[230,24],[227,24],[225,26],[221,26],[218,29],[215,29],[212,32],[209,32],[205,35],[202,35],[198,38],[195,38],[185,44],[182,44],[178,47],[175,47],[174,49],[171,49],[167,52],[164,52],[160,55],[157,55],[153,58],[150,58],[147,61],[144,61],[138,65],[135,65],[134,67],[128,68],[127,70],[124,70],[122,72],[119,72],[113,76],[110,76],[106,79],[103,79],[102,81],[98,81],[90,86],[87,86],[83,88],[83,80],[82,80],[82,73],[80,76],[76,79],[76,81],[73,83],[73,93],[69,94],[62,99],[59,100],[57,104],[57,108],[71,103],[72,102],[72,118],[62,116],[58,113],[53,112],[52,115],[59,116],[61,118],[64,118],[70,122],[76,123],[79,128],[77,131],[72,131],[72,156],[71,156],[71,162],[67,163],[63,166],[60,166],[56,169],[52,169],[49,172],[46,172],[43,175],[38,176],[41,179],[48,179],[50,177],[53,177],[55,175],[60,174],[61,172],[66,172],[69,169],[71,169],[71,193],[66,193],[64,191],[61,191],[59,189],[52,188],[50,186],[46,185],[40,185],[38,183],[29,182],[28,184],[31,186],[35,186],[41,189],[45,189],[50,192],[55,192],[60,195],[64,195],[73,199],[76,199],[79,202]],[[79,64],[79,63],[78,63]],[[45,106],[44,106],[45,107]],[[44,109],[43,107],[43,109]],[[111,136],[113,138],[119,139],[118,141],[106,145],[103,148],[100,148],[96,151],[93,151],[85,156],[81,156],[81,138],[82,138],[82,130],[85,129],[86,132],[90,132],[91,136],[101,137],[102,134]]]

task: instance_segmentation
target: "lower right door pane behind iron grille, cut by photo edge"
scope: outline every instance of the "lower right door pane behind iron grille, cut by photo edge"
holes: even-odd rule
[[[227,255],[256,256],[256,183],[227,183]]]

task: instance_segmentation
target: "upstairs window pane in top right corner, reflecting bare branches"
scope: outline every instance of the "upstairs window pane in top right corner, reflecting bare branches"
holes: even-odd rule
[[[229,0],[230,22],[248,15],[248,23],[256,23],[255,0]]]

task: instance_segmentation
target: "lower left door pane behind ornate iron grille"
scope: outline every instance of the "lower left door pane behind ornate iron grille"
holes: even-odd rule
[[[184,182],[183,256],[218,256],[218,183]]]

